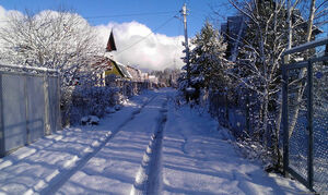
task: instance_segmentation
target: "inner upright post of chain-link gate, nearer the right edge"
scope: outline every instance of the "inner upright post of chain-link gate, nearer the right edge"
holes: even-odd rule
[[[308,131],[308,158],[307,179],[308,188],[313,190],[313,66],[311,60],[307,63],[307,131]]]

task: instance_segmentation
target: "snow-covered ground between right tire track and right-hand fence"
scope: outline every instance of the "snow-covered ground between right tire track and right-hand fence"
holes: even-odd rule
[[[172,106],[171,106],[172,107]],[[268,174],[238,155],[226,130],[203,113],[168,109],[163,139],[163,194],[302,194],[291,180]]]

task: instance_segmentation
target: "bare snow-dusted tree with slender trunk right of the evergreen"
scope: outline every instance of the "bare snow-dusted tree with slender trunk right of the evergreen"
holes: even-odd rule
[[[246,35],[239,58],[230,75],[255,92],[259,99],[260,112],[258,135],[265,143],[269,137],[269,108],[274,106],[280,90],[280,58],[285,48],[284,4],[273,1],[232,4],[246,17]],[[241,5],[242,4],[242,5]]]

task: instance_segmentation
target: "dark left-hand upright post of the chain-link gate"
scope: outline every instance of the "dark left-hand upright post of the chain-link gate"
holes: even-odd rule
[[[283,124],[283,174],[288,176],[289,168],[289,72],[284,64],[284,56],[282,56],[282,124]]]

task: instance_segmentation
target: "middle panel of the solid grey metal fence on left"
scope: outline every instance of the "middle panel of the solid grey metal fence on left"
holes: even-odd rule
[[[27,95],[27,131],[28,142],[45,135],[45,93],[44,78],[39,76],[26,77]]]

